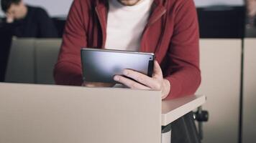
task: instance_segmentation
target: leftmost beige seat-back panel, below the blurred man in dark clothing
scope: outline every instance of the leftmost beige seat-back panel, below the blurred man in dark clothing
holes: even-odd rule
[[[35,39],[13,39],[5,82],[35,83]]]

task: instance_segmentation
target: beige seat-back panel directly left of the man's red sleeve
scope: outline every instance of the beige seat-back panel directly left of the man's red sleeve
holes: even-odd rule
[[[37,39],[35,41],[36,83],[54,84],[53,69],[58,59],[61,39]]]

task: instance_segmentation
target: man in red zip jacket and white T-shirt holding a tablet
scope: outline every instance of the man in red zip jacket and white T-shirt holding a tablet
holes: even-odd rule
[[[55,82],[112,86],[83,83],[81,47],[154,52],[152,78],[125,70],[137,82],[121,76],[114,79],[132,89],[161,90],[163,99],[193,94],[201,82],[193,0],[73,1],[55,65]]]

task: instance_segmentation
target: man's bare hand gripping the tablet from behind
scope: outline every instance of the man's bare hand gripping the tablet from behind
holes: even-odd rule
[[[120,82],[131,89],[153,89],[160,90],[162,92],[162,99],[165,99],[170,92],[170,82],[167,79],[163,79],[163,73],[160,65],[157,61],[154,61],[154,71],[152,77],[148,77],[131,69],[124,69],[124,76],[134,79],[123,77],[121,75],[114,76],[116,82]]]

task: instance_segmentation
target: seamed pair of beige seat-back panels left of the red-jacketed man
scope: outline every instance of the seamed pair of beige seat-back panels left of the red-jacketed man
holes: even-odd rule
[[[61,39],[13,39],[5,82],[54,84]]]

